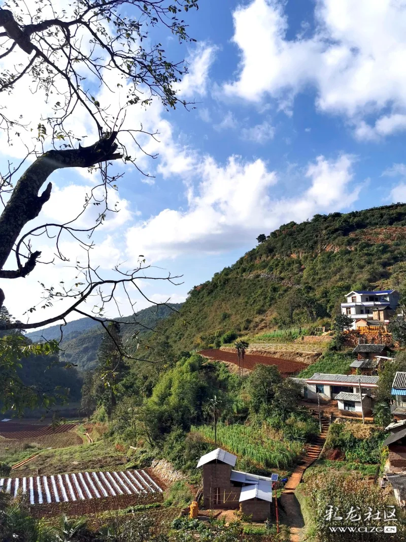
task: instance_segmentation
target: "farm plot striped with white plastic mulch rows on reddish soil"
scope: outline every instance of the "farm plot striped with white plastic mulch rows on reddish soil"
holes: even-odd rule
[[[145,470],[0,478],[0,491],[14,497],[18,491],[27,493],[31,505],[162,493],[162,489]]]

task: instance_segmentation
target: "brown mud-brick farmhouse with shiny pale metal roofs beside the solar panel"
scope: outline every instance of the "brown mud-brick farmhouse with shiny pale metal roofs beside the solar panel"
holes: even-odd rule
[[[241,509],[253,521],[271,515],[272,479],[233,470],[237,457],[217,448],[200,457],[203,503],[206,508]]]

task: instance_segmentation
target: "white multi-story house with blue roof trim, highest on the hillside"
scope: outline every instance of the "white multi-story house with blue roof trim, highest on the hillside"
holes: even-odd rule
[[[357,320],[367,324],[388,324],[396,313],[400,296],[396,290],[378,290],[352,291],[346,294],[346,298],[346,302],[341,304],[341,312],[353,320],[352,329],[356,329]]]

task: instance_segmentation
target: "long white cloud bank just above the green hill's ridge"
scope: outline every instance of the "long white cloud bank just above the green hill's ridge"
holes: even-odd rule
[[[346,154],[336,160],[319,156],[307,166],[308,188],[278,200],[271,195],[277,175],[263,160],[232,157],[220,166],[206,157],[193,170],[199,184],[195,191],[189,188],[186,211],[165,209],[127,231],[129,258],[136,259],[140,251],[148,261],[220,253],[249,243],[259,230],[270,231],[281,222],[348,208],[361,189],[353,185],[354,161]]]

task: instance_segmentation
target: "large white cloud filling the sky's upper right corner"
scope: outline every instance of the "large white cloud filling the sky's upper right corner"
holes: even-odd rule
[[[311,85],[320,111],[345,115],[360,139],[406,128],[403,0],[318,0],[313,35],[291,40],[281,2],[253,0],[233,16],[241,61],[237,79],[223,87],[226,95],[289,104]],[[371,114],[376,120],[369,125]]]

